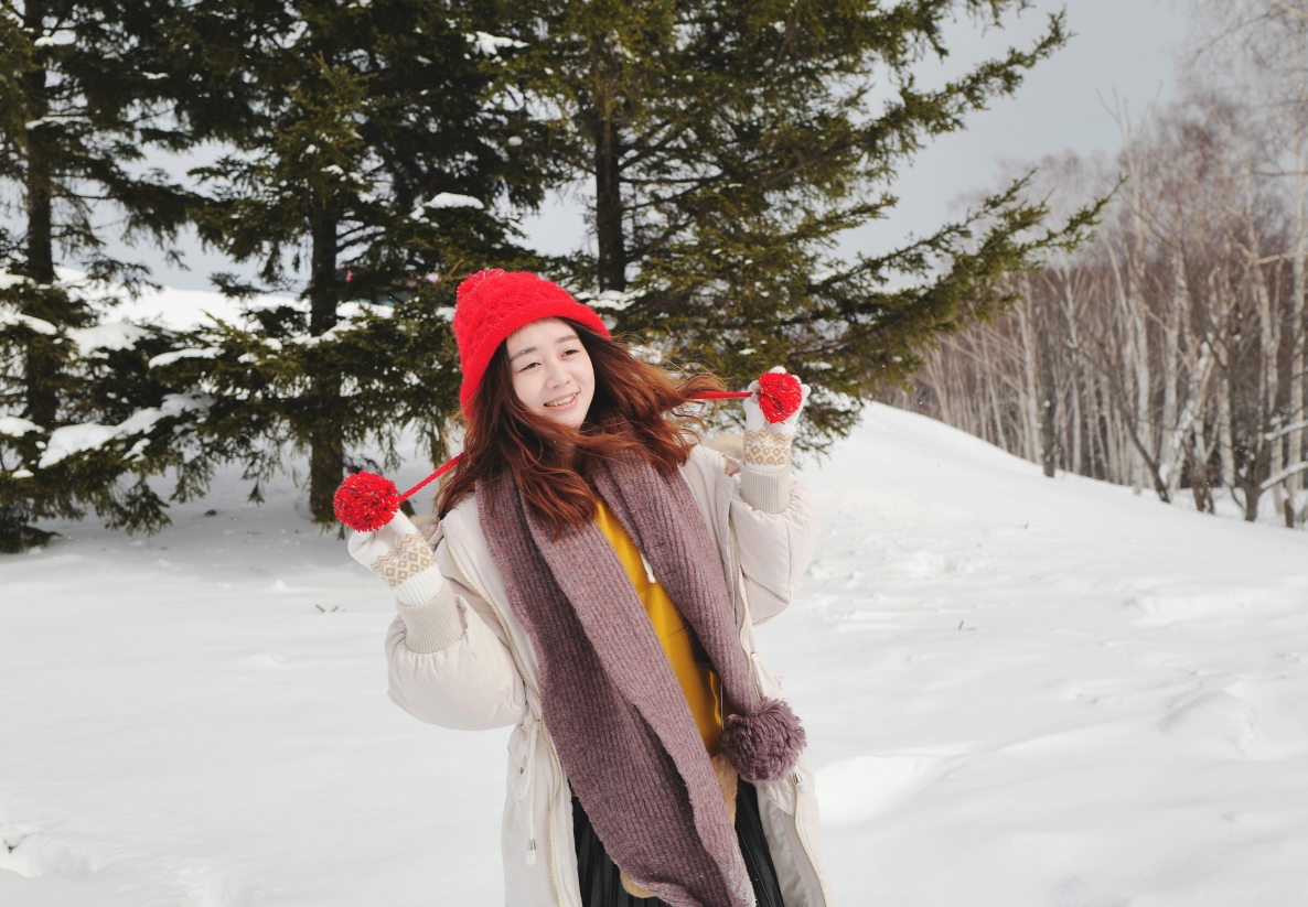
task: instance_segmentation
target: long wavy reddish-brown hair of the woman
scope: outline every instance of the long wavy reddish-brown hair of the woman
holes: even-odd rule
[[[596,495],[589,473],[596,460],[634,455],[670,476],[691,455],[697,438],[688,422],[698,420],[684,408],[697,393],[721,391],[722,382],[709,374],[674,382],[663,369],[633,357],[627,344],[576,322],[568,324],[577,331],[595,371],[595,396],[586,421],[572,429],[527,409],[513,389],[506,342],[500,344],[466,413],[463,459],[436,495],[441,518],[472,494],[477,480],[510,472],[523,501],[551,521],[559,536],[595,519]],[[573,451],[570,463],[561,450]]]

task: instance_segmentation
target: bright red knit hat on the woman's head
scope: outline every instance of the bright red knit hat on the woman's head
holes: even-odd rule
[[[481,378],[500,344],[518,328],[543,318],[566,318],[608,338],[608,328],[594,308],[572,298],[564,288],[526,271],[479,271],[459,284],[454,307],[454,336],[459,341],[463,387],[459,404],[472,409]]]

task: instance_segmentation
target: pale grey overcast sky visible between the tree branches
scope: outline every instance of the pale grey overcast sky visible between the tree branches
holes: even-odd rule
[[[965,132],[937,140],[917,157],[895,186],[900,197],[896,210],[886,221],[848,234],[845,252],[884,251],[908,234],[930,233],[950,217],[951,201],[995,186],[1005,161],[1036,161],[1066,149],[1114,150],[1117,124],[1105,108],[1114,91],[1137,112],[1154,99],[1168,99],[1186,31],[1177,0],[1036,0],[1033,9],[985,35],[963,21],[951,29],[950,60],[923,67],[921,81],[939,82],[1010,44],[1029,44],[1045,27],[1048,13],[1065,7],[1074,33],[1067,47],[1040,64],[1016,97],[976,114]],[[582,210],[578,193],[547,201],[523,223],[531,244],[549,254],[587,244]],[[186,248],[188,272],[166,268],[152,250],[124,255],[150,264],[160,282],[184,289],[209,289],[213,271],[239,271],[201,254],[194,243]]]

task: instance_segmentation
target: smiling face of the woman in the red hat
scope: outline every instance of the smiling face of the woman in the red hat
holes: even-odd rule
[[[531,412],[573,429],[586,421],[595,370],[577,331],[543,318],[509,335],[509,372],[518,400]]]

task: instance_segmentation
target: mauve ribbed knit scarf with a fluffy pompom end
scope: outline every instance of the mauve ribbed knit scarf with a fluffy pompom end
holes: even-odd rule
[[[727,758],[746,780],[782,778],[803,728],[751,681],[730,585],[685,480],[629,457],[599,465],[593,481],[722,678]],[[545,725],[613,863],[672,907],[753,904],[695,716],[604,533],[590,524],[556,541],[510,474],[479,482],[476,499],[535,647]]]

